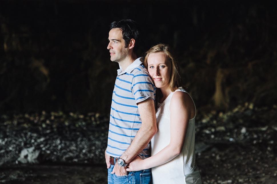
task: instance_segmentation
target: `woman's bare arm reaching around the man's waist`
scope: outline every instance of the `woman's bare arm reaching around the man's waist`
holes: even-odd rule
[[[129,163],[127,171],[149,169],[166,163],[178,156],[183,149],[188,122],[195,115],[195,107],[190,96],[176,91],[170,101],[170,143],[156,155],[147,159],[135,159]]]

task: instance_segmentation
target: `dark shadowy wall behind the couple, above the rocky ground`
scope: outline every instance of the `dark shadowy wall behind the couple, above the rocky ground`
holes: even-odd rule
[[[0,112],[109,113],[109,24],[133,19],[138,56],[169,44],[198,108],[277,103],[274,1],[0,1]]]

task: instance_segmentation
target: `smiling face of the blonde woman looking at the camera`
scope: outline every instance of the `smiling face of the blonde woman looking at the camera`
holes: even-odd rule
[[[168,89],[172,66],[166,54],[156,52],[149,54],[147,59],[148,72],[157,88]]]

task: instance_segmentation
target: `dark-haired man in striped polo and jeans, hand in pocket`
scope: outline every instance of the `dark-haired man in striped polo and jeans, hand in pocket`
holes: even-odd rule
[[[108,146],[105,152],[108,183],[151,183],[150,169],[127,173],[127,164],[150,156],[150,140],[157,131],[155,87],[137,58],[139,31],[132,20],[113,22],[108,49],[119,68],[111,105]]]

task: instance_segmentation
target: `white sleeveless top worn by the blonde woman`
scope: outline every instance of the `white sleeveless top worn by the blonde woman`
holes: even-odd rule
[[[178,88],[176,91],[183,91]],[[175,92],[175,91],[174,91]],[[151,155],[157,154],[170,142],[170,100],[174,92],[158,103],[156,113],[158,131],[151,140]],[[195,105],[194,105],[195,106]],[[152,168],[153,184],[200,184],[201,176],[195,164],[195,116],[189,120],[182,152],[174,159]]]

